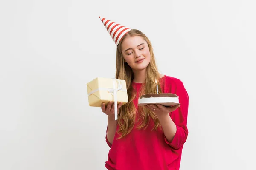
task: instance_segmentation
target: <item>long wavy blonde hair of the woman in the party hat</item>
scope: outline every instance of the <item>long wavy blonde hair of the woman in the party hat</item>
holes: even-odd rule
[[[150,63],[146,68],[146,79],[145,79],[145,83],[143,83],[142,88],[140,90],[140,96],[142,94],[157,92],[155,80],[157,80],[158,82],[159,93],[161,93],[161,88],[159,85],[160,75],[156,66],[151,42],[148,39],[148,37],[146,37],[145,34],[143,34],[141,31],[137,29],[131,29],[127,34],[125,34],[122,40],[120,40],[116,49],[116,79],[123,79],[126,81],[128,101],[129,101],[125,105],[122,105],[121,108],[119,109],[119,114],[118,114],[119,119],[117,122],[120,127],[118,130],[120,137],[118,139],[126,136],[128,133],[131,132],[135,124],[135,115],[136,115],[136,108],[133,102],[133,99],[136,97],[136,93],[134,93],[134,89],[132,87],[134,73],[131,67],[127,64],[127,62],[125,62],[121,52],[122,42],[123,40],[125,40],[125,37],[127,37],[128,35],[131,37],[132,36],[143,37],[143,39],[148,43],[149,52],[151,56]],[[138,110],[139,110],[138,113],[140,113],[139,120],[141,121],[137,128],[139,129],[143,127],[147,128],[149,120],[150,118],[152,118],[154,121],[154,128],[152,130],[157,130],[157,128],[160,126],[160,122],[157,119],[157,116],[155,115],[155,113],[146,109],[145,107],[140,107],[140,106],[138,106]]]

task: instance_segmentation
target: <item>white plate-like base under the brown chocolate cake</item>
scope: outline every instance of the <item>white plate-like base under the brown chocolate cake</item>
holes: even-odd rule
[[[179,105],[179,97],[143,97],[139,99],[138,106],[148,104],[161,104],[164,106]]]

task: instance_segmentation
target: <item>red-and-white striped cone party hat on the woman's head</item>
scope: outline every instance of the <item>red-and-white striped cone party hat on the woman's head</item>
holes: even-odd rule
[[[122,26],[118,23],[115,23],[111,20],[107,20],[103,17],[99,17],[99,19],[102,21],[104,26],[106,27],[108,33],[110,34],[111,38],[115,42],[116,45],[119,44],[122,37],[131,30],[131,28]]]

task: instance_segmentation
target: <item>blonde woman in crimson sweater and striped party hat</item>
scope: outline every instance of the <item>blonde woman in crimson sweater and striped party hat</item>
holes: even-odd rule
[[[141,31],[127,28],[100,17],[117,45],[116,78],[127,84],[128,100],[119,103],[118,120],[114,105],[102,103],[108,115],[106,142],[110,147],[108,170],[179,170],[183,144],[188,136],[189,96],[183,83],[159,74],[150,40]],[[121,28],[120,28],[121,27]],[[137,106],[142,94],[160,93],[179,96],[180,105]]]

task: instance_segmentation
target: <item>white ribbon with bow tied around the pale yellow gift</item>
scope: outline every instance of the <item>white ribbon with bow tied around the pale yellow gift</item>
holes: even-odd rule
[[[117,81],[117,88],[116,82]],[[126,89],[122,89],[122,84],[119,79],[113,78],[113,88],[98,88],[96,90],[91,91],[88,96],[95,93],[96,91],[106,90],[114,96],[114,106],[115,106],[115,120],[117,120],[117,91],[127,91]]]

